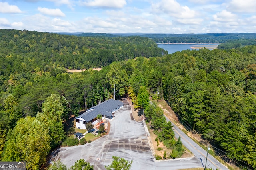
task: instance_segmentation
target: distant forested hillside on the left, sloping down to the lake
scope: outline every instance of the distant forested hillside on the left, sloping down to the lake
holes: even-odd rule
[[[0,30],[1,72],[15,72],[26,67],[32,71],[50,69],[50,64],[70,69],[99,68],[113,61],[167,54],[152,39],[145,37],[77,37],[36,31]],[[6,57],[9,56],[9,57]],[[12,58],[24,60],[8,67]]]

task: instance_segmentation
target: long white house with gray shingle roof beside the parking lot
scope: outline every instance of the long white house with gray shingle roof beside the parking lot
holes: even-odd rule
[[[96,124],[97,115],[102,115],[104,118],[110,119],[113,113],[123,107],[123,103],[119,100],[109,99],[90,109],[86,110],[82,115],[76,117],[76,128],[86,129],[86,124],[92,122]]]

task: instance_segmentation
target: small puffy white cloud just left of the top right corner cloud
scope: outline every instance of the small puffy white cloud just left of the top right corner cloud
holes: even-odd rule
[[[238,20],[236,14],[232,14],[227,10],[222,10],[221,12],[214,14],[213,19],[214,21],[218,21],[218,22],[234,22]]]

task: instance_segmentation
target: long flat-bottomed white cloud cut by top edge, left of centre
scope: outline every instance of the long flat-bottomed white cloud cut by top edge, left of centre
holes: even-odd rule
[[[103,8],[123,8],[126,5],[126,0],[90,0],[82,4]]]

